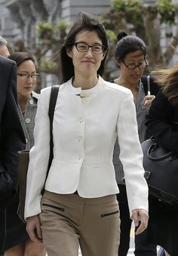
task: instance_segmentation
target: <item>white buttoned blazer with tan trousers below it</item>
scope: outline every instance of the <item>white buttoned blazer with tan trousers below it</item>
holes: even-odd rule
[[[29,154],[25,217],[41,212],[49,158],[51,88],[44,88],[35,119],[35,145]],[[45,190],[85,198],[118,193],[112,153],[116,136],[121,148],[127,198],[132,210],[148,211],[148,187],[143,177],[143,153],[137,132],[131,91],[99,77],[88,90],[74,88],[72,79],[60,86],[54,111],[54,159]]]

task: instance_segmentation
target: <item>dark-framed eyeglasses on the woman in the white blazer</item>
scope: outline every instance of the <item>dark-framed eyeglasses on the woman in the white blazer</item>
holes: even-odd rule
[[[91,48],[91,51],[94,54],[102,54],[103,51],[107,50],[106,46],[104,45],[87,45],[83,42],[76,42],[75,47],[77,51],[80,51],[80,52],[86,52],[88,51],[89,48]]]

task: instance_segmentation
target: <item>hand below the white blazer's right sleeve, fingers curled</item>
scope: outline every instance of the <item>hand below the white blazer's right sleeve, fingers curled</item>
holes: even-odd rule
[[[148,226],[149,214],[143,209],[135,209],[132,211],[132,213],[133,221],[136,228],[135,234],[139,235],[144,230],[146,230],[146,227]]]

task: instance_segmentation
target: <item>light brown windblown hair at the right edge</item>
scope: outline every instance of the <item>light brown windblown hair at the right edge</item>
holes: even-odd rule
[[[155,77],[155,82],[162,85],[161,91],[170,103],[178,108],[178,65],[155,69],[152,75]]]

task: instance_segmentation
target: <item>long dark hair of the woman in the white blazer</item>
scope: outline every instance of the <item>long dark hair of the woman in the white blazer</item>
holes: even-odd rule
[[[91,16],[91,14],[80,12],[75,20],[75,23],[73,24],[68,35],[66,36],[66,42],[60,50],[61,72],[63,76],[63,82],[68,81],[72,78],[72,76],[74,76],[74,66],[72,63],[72,58],[67,55],[66,51],[72,49],[73,45],[75,44],[76,35],[78,35],[79,32],[84,32],[86,30],[96,32],[102,41],[102,45],[106,47],[105,52],[108,49],[108,38],[103,24],[100,23],[100,21],[97,20],[95,17]],[[105,60],[106,56],[102,60],[100,68],[97,70],[97,73],[100,76],[103,76]]]

